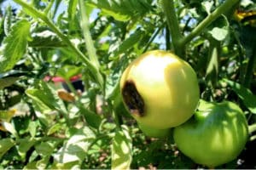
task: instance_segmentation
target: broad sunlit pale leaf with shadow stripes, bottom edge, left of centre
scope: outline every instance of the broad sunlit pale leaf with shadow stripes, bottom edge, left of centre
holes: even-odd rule
[[[61,149],[55,153],[56,167],[71,168],[82,163],[90,148],[90,144],[92,144],[95,139],[96,135],[89,127],[78,129],[78,131],[63,144]]]

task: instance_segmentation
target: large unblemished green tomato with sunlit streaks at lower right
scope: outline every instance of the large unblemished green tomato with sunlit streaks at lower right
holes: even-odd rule
[[[236,159],[248,137],[247,120],[238,105],[201,102],[188,122],[174,128],[177,148],[196,163],[216,167]]]

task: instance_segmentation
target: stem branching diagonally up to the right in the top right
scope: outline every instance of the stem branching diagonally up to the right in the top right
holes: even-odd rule
[[[209,26],[212,21],[216,20],[221,14],[224,14],[227,10],[232,8],[239,0],[226,0],[222,5],[216,8],[212,14],[209,14],[205,20],[202,20],[201,23],[195,27],[193,31],[187,37],[184,37],[182,40],[181,46],[190,42],[194,37],[198,36],[201,31],[203,31],[207,26]]]

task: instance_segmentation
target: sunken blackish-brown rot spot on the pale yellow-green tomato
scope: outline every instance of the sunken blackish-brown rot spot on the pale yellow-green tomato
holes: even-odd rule
[[[133,81],[128,80],[122,88],[122,95],[125,105],[128,107],[131,114],[144,116],[144,101],[138,93],[136,85]]]

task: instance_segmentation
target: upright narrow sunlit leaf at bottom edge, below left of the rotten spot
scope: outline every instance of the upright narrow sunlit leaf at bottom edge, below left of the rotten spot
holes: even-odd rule
[[[130,169],[132,161],[132,140],[125,125],[115,133],[112,144],[112,169]]]

